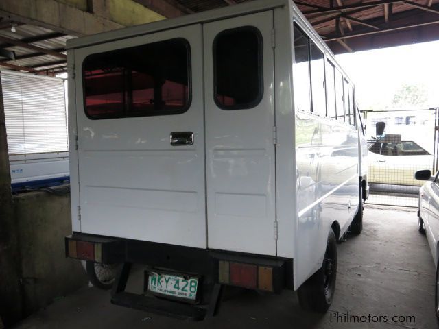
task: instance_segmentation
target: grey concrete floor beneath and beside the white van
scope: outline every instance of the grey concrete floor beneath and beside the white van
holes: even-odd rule
[[[416,209],[367,206],[364,231],[338,245],[337,289],[326,315],[300,310],[296,293],[239,291],[219,315],[193,323],[113,306],[108,291],[84,288],[21,322],[30,328],[437,328],[434,263],[417,231]],[[388,316],[388,323],[340,323],[339,315]],[[394,315],[413,321],[392,322]],[[364,318],[363,318],[364,319]],[[366,319],[367,320],[367,319]]]

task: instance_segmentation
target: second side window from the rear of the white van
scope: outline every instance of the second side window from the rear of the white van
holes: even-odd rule
[[[313,112],[324,117],[327,114],[327,101],[324,91],[324,56],[311,41],[311,87]]]

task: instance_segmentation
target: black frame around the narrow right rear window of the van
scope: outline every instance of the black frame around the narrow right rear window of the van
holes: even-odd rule
[[[233,34],[233,32],[237,31],[250,31],[253,32],[254,35],[257,37],[258,42],[258,54],[257,54],[257,60],[258,60],[258,94],[257,97],[249,102],[243,105],[233,105],[233,106],[224,106],[221,103],[219,103],[217,99],[217,40],[220,36],[223,36],[224,34]],[[221,110],[225,111],[232,111],[232,110],[249,110],[251,108],[255,108],[261,103],[264,95],[264,76],[263,76],[263,70],[264,70],[264,61],[263,61],[263,36],[261,31],[256,27],[252,25],[245,25],[240,27],[233,27],[231,29],[223,29],[221,32],[219,32],[212,42],[212,66],[213,66],[213,101],[215,102],[215,105],[220,108]]]

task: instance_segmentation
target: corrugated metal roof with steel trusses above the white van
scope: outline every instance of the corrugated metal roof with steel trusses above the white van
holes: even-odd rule
[[[183,12],[190,13],[251,0],[162,1],[178,5],[178,8],[185,9]],[[373,5],[368,6],[369,3]],[[328,41],[328,45],[334,53],[439,39],[439,0],[299,0],[296,1],[296,5],[320,36],[331,40]],[[331,11],[328,12],[328,10]],[[15,27],[15,32],[11,31],[12,25]],[[2,68],[53,74],[54,71],[64,70],[65,58],[54,56],[56,54],[50,54],[41,49],[8,45],[5,38],[21,40],[41,49],[65,54],[66,41],[75,37],[57,33],[45,27],[22,24],[0,17],[0,64],[3,64]],[[7,58],[5,51],[14,52],[16,59]]]

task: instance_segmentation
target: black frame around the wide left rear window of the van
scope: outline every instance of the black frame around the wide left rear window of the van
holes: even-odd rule
[[[182,42],[182,45],[185,46],[185,49],[187,51],[187,83],[188,83],[188,97],[187,97],[187,103],[185,104],[184,107],[180,108],[179,110],[162,110],[160,112],[156,112],[156,113],[141,113],[141,112],[137,112],[134,114],[124,114],[126,113],[125,111],[122,112],[121,114],[99,114],[99,116],[91,116],[88,114],[87,112],[87,106],[86,106],[86,92],[85,92],[85,74],[84,74],[84,66],[86,63],[86,60],[88,58],[95,58],[95,57],[99,57],[102,56],[105,53],[111,53],[111,52],[116,52],[116,51],[129,51],[130,49],[136,49],[136,48],[140,48],[140,47],[144,47],[147,45],[154,45],[157,43],[161,43],[161,42],[172,42],[172,41],[179,41]],[[177,115],[177,114],[182,114],[187,112],[187,110],[189,110],[189,108],[191,108],[192,105],[192,53],[191,53],[191,44],[189,43],[189,40],[187,40],[186,38],[182,38],[182,37],[177,37],[177,38],[170,38],[170,39],[164,39],[164,40],[159,40],[159,41],[155,41],[155,42],[149,42],[149,43],[144,43],[141,45],[136,45],[133,47],[123,47],[123,48],[118,48],[118,49],[112,49],[110,51],[102,51],[101,53],[91,53],[88,54],[84,60],[82,60],[82,65],[81,65],[81,75],[82,75],[82,101],[83,101],[83,106],[84,106],[84,114],[86,115],[86,117],[90,120],[104,120],[104,119],[123,119],[123,118],[138,118],[138,117],[161,117],[163,115]],[[123,88],[123,93],[126,93],[126,88]],[[126,97],[123,97],[124,100]],[[121,104],[123,106],[123,108],[126,108],[127,106],[129,108],[132,107],[132,103],[128,104],[128,103],[122,103]],[[150,112],[150,111],[148,111]]]

